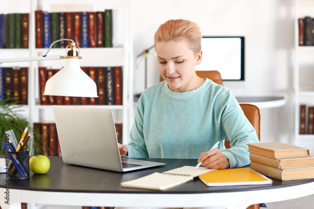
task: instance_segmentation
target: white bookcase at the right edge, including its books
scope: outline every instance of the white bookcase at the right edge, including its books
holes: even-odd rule
[[[294,93],[295,145],[314,149],[314,3],[295,1]],[[290,107],[290,108],[291,108]],[[288,108],[288,107],[287,107]]]

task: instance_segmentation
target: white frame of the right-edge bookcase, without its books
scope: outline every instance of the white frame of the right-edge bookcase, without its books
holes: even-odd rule
[[[295,145],[314,149],[314,134],[308,134],[308,107],[314,106],[314,46],[299,45],[299,18],[314,18],[314,2],[309,0],[295,1],[295,62],[294,62],[294,98],[287,102],[294,104],[295,112]],[[304,31],[305,32],[305,31]],[[300,134],[300,105],[306,105],[305,134]],[[293,107],[293,105],[291,105]]]

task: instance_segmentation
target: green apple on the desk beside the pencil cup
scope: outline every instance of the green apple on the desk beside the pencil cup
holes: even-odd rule
[[[50,160],[45,155],[36,155],[30,158],[30,170],[34,174],[45,174],[50,168]]]

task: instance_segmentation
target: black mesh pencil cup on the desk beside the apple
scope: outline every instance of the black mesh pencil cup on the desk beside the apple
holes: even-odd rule
[[[11,160],[8,165],[9,179],[21,180],[30,178],[30,150],[23,149],[20,152],[9,152]]]

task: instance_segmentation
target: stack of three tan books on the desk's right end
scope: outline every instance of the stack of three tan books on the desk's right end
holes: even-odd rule
[[[251,169],[282,181],[314,178],[310,149],[280,142],[248,144]]]

